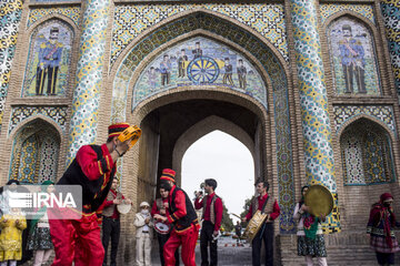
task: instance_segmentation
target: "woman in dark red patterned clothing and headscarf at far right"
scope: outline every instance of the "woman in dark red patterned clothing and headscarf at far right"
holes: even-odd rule
[[[396,221],[392,203],[392,195],[383,193],[380,202],[372,205],[367,225],[370,246],[377,253],[379,265],[394,265],[394,253],[400,250],[393,233],[393,227],[399,227],[400,224]]]

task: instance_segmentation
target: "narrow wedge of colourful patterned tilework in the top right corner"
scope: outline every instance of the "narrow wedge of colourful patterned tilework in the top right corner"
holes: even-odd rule
[[[382,0],[380,3],[384,19],[396,88],[400,94],[400,1]]]

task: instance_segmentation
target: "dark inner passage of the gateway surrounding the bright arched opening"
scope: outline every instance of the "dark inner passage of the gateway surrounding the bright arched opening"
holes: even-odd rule
[[[184,153],[196,141],[216,130],[236,137],[253,157],[254,173],[246,177],[247,181],[251,180],[251,185],[257,176],[269,176],[266,174],[272,167],[266,154],[266,143],[270,142],[271,136],[269,126],[266,126],[269,115],[261,119],[238,103],[214,99],[187,99],[164,104],[142,120],[140,126],[146,134],[139,147],[138,202],[154,198],[162,168],[176,170],[177,183],[181,185]],[[207,172],[206,168],[203,171]]]

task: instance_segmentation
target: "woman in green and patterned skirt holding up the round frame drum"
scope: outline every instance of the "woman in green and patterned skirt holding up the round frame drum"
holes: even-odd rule
[[[321,222],[324,217],[310,214],[310,207],[304,204],[308,186],[301,187],[301,200],[294,207],[293,217],[298,223],[298,255],[306,256],[308,266],[312,266],[312,258],[317,257],[318,265],[327,266],[327,249],[322,234]]]

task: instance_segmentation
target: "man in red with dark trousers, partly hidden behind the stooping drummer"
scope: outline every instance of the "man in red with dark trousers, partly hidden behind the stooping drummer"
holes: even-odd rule
[[[160,188],[160,195],[161,197],[156,198],[152,207],[151,207],[151,216],[154,217],[154,214],[160,214],[162,216],[168,216],[169,212],[168,212],[168,194],[169,192],[166,191],[164,188]],[[168,224],[168,221],[167,221]],[[166,265],[164,258],[163,258],[163,246],[166,245],[168,238],[171,236],[171,232],[168,233],[159,233],[157,232],[157,238],[159,242],[159,252],[160,252],[160,262],[161,262],[161,266]],[[176,257],[176,266],[179,266],[179,250],[177,249],[177,252],[174,253],[174,257]]]

